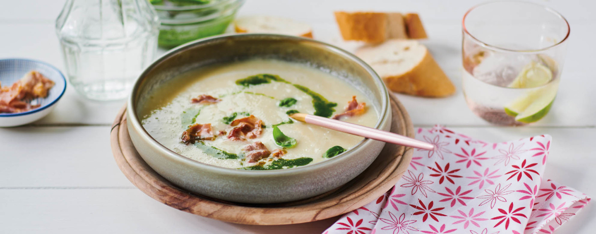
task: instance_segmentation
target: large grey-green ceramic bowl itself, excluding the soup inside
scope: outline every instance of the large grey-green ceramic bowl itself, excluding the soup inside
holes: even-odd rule
[[[333,72],[372,100],[367,106],[370,104],[380,116],[375,128],[390,129],[389,93],[383,81],[370,66],[347,51],[294,36],[215,36],[169,51],[151,64],[136,82],[126,115],[132,142],[144,161],[164,178],[190,192],[232,202],[276,203],[311,198],[342,186],[377,158],[384,143],[364,139],[341,155],[318,164],[271,171],[237,170],[178,155],[154,140],[142,127],[137,110],[149,98],[148,94],[164,82],[197,67],[255,58],[306,63]]]

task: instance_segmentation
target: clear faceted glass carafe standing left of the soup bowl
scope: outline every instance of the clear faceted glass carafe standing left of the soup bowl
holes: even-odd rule
[[[91,100],[128,96],[157,50],[159,18],[147,0],[67,0],[55,27],[70,84]]]

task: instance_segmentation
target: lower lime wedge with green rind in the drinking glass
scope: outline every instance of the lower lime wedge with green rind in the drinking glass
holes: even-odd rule
[[[551,109],[552,101],[557,96],[558,82],[533,90],[517,98],[507,106],[505,113],[515,116],[516,121],[531,123],[542,119]]]

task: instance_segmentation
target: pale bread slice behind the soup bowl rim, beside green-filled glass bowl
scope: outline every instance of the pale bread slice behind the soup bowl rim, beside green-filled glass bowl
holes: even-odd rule
[[[236,32],[276,33],[312,38],[312,28],[308,24],[274,16],[246,16],[234,21]]]

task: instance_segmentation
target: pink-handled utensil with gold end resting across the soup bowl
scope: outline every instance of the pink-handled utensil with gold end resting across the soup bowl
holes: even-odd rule
[[[424,141],[415,140],[413,138],[401,136],[399,134],[390,133],[387,131],[377,130],[375,128],[364,127],[358,124],[350,124],[335,119],[324,118],[316,115],[308,115],[305,113],[293,113],[291,118],[307,124],[314,124],[320,127],[329,128],[331,130],[340,131],[342,133],[349,133],[356,136],[371,138],[373,140],[384,141],[386,143],[399,144],[401,146],[409,146],[418,149],[433,150],[433,144]]]

